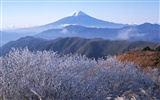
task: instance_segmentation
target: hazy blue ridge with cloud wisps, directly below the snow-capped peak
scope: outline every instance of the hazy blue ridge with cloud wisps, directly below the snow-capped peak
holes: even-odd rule
[[[104,38],[110,40],[151,41],[160,43],[160,25],[144,23],[123,28],[90,28],[69,25],[61,29],[43,31],[35,37],[55,39],[57,37]]]

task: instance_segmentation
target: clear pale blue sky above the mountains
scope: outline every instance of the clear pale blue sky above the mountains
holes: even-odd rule
[[[75,10],[116,23],[160,23],[159,0],[1,0],[2,26],[34,26],[54,22]]]

